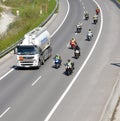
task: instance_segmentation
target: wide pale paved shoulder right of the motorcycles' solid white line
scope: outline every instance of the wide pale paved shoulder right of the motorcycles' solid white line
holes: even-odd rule
[[[50,121],[99,120],[117,80],[119,64],[114,66],[111,63],[119,61],[119,10],[111,1],[97,2],[104,14],[101,37],[76,83]]]

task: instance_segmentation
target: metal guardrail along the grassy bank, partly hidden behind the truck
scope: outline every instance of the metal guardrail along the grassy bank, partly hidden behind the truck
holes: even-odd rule
[[[54,15],[54,13],[56,12],[56,10],[58,8],[58,5],[59,5],[59,0],[56,0],[56,6],[55,6],[54,10],[48,16],[48,18],[39,25],[40,27],[43,27],[51,19],[51,17]],[[22,42],[22,40],[23,40],[23,38],[20,39],[19,41],[17,41],[15,44],[13,44],[10,47],[8,47],[7,49],[5,49],[2,52],[0,52],[0,58],[5,56],[6,54],[11,52],[12,50],[14,50],[16,48],[16,46]]]

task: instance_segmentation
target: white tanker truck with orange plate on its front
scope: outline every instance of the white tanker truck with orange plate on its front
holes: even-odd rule
[[[25,34],[16,48],[18,68],[39,68],[51,56],[50,34],[46,28],[36,27]]]

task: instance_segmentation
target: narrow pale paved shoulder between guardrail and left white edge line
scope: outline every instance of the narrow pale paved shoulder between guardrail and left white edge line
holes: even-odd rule
[[[59,5],[60,5],[59,13],[55,17],[52,17],[51,20],[48,21],[48,23],[45,25],[45,27],[47,27],[48,31],[51,34],[58,28],[60,23],[63,21],[68,9],[67,2],[64,0],[59,1]],[[0,59],[0,77],[6,75],[6,73],[8,74],[11,73],[14,70],[15,66],[16,66],[16,55],[12,51]]]

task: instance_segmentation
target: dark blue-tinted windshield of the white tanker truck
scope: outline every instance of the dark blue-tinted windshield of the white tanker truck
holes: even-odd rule
[[[18,46],[17,54],[18,55],[34,55],[38,53],[38,49],[34,46]]]

